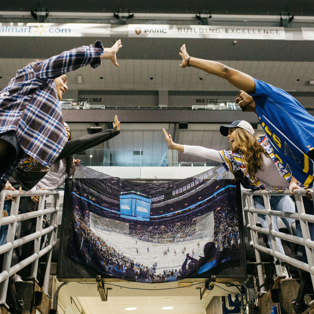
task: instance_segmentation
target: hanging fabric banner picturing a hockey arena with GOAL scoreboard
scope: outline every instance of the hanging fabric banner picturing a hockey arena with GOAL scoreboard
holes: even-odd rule
[[[162,183],[88,171],[92,176],[74,178],[68,193],[71,227],[61,239],[67,238],[69,268],[80,264],[106,278],[164,283],[241,267],[242,212],[233,176],[222,165]]]

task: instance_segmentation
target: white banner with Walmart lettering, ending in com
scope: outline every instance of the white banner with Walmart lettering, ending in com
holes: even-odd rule
[[[0,23],[0,36],[110,37],[110,24]]]

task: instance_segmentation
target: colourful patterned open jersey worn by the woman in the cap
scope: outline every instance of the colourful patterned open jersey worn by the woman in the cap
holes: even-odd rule
[[[273,160],[275,165],[277,166],[278,170],[280,171],[281,175],[288,181],[291,181],[291,174],[284,168],[284,166],[280,163],[279,159],[274,155],[272,147],[268,141],[268,137],[266,134],[257,136],[257,142],[260,143],[261,146],[266,150],[270,158]],[[241,170],[243,173],[246,171],[246,166],[243,161],[243,155],[234,152],[232,150],[220,150],[219,154],[223,159],[224,166],[227,171],[235,171]],[[248,174],[245,174],[246,178],[248,179],[249,186],[252,190],[268,190],[268,191],[282,191],[286,189],[286,187],[270,187],[270,186],[263,186],[261,182],[257,181],[254,183],[249,177]],[[300,187],[304,187],[300,182],[298,182]]]

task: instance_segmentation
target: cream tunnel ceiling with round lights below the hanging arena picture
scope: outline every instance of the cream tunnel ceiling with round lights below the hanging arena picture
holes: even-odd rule
[[[184,287],[186,285],[186,287]],[[204,290],[204,281],[187,280],[184,283],[143,284],[132,282],[111,282],[106,284],[108,300],[101,301],[96,284],[69,282],[62,287],[59,294],[58,312],[85,314],[125,314],[126,307],[136,307],[129,311],[134,314],[206,314],[219,313],[220,296],[228,295],[228,291],[238,293],[235,287],[226,287],[224,283],[215,284],[210,293],[200,299],[200,290]],[[227,290],[227,291],[225,291]],[[75,293],[73,292],[75,291]],[[71,298],[72,297],[72,298]],[[163,306],[173,309],[163,310]],[[207,309],[207,310],[206,310]]]

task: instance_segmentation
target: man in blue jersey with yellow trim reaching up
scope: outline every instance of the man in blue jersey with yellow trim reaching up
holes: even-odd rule
[[[313,187],[314,117],[290,94],[220,62],[190,57],[181,47],[181,68],[194,67],[225,78],[240,89],[237,104],[242,111],[256,112],[275,156],[294,176],[290,192],[299,181]]]

